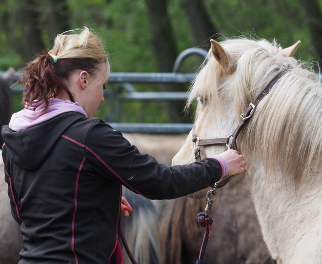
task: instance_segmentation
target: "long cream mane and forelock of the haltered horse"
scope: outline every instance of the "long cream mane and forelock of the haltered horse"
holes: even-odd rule
[[[223,71],[210,49],[187,106],[199,95],[213,107],[209,118],[214,113],[227,118],[222,109],[225,103],[232,103],[237,112],[230,118],[236,119],[237,126],[249,103],[287,69],[241,131],[239,150],[246,160],[252,153],[261,155],[266,175],[282,171],[296,185],[304,177],[314,176],[322,152],[322,88],[316,74],[304,69],[303,62],[285,56],[285,49],[276,42],[235,39],[220,44],[230,54],[228,70]],[[201,102],[197,119],[200,107]]]

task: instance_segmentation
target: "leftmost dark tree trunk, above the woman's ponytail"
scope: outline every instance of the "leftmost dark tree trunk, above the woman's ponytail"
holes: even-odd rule
[[[30,61],[44,48],[39,25],[40,14],[36,0],[20,0],[19,18],[22,23],[23,47],[18,51],[24,61]]]

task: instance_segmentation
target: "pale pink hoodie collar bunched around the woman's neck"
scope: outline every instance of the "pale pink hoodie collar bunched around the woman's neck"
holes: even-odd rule
[[[44,108],[45,102],[43,101],[25,106],[21,111],[12,115],[9,127],[14,131],[20,131],[46,122],[67,112],[78,112],[84,117],[87,117],[87,114],[78,102],[71,102],[69,100],[62,101],[58,98],[53,98],[49,100],[46,111],[43,111]]]

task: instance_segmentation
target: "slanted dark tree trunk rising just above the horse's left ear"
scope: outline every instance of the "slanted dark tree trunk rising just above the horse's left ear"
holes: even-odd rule
[[[215,34],[219,31],[211,23],[202,0],[181,0],[181,6],[187,15],[195,44],[208,50],[209,39],[216,40]]]

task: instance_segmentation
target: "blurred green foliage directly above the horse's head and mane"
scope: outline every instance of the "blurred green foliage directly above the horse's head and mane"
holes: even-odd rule
[[[301,40],[295,56],[312,61],[311,41],[300,0],[204,0],[224,37],[276,39],[286,48]],[[299,55],[300,54],[300,55]]]

